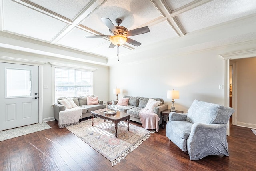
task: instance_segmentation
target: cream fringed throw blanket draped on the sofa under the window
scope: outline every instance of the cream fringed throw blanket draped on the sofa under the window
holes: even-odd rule
[[[80,107],[74,107],[59,113],[59,128],[75,125],[82,118],[83,109]]]

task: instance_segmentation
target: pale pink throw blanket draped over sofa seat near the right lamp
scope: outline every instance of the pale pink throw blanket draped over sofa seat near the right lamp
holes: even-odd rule
[[[160,118],[156,113],[148,109],[141,109],[139,115],[142,127],[145,129],[156,129],[156,132],[158,132],[158,121],[160,121]]]

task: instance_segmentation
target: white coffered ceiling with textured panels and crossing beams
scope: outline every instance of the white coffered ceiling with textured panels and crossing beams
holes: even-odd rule
[[[35,44],[61,47],[64,51],[80,54],[79,58],[88,62],[100,64],[107,64],[108,59],[117,53],[116,47],[108,48],[108,38],[85,37],[110,35],[100,19],[102,17],[109,18],[114,24],[115,19],[120,18],[123,21],[121,26],[128,30],[149,27],[150,32],[129,37],[142,43],[141,46],[128,43],[120,46],[120,55],[125,55],[140,49],[152,49],[168,41],[183,44],[183,47],[194,46],[182,41],[190,34],[200,35],[207,30],[210,34],[217,27],[256,16],[255,0],[0,0],[0,6],[0,34],[5,37],[15,35],[12,38],[34,44],[23,46],[0,40],[0,47],[11,49],[15,46],[26,52],[44,54],[45,51],[46,54],[51,52],[52,56],[67,58],[68,55],[48,48],[39,50]],[[226,28],[225,32],[232,32],[232,28]],[[248,31],[218,42],[255,39],[255,32]],[[210,42],[205,39],[198,44],[207,48]]]

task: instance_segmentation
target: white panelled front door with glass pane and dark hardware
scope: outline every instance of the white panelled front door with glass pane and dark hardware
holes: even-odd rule
[[[0,131],[38,123],[38,66],[0,62]]]

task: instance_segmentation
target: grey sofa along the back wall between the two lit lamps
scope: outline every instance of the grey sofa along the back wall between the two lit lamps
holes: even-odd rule
[[[138,96],[128,96],[125,95],[123,98],[128,98],[128,105],[117,105],[118,100],[113,101],[112,105],[108,105],[108,109],[112,109],[114,111],[124,111],[127,114],[130,114],[130,120],[141,123],[139,112],[141,109],[146,107],[149,98],[138,97]],[[154,107],[154,113],[156,113],[160,118],[162,118],[161,111],[168,109],[168,105],[164,104],[164,100],[161,98],[152,98],[154,100],[160,101],[161,104],[157,107]],[[162,124],[162,119],[158,122],[158,124]]]

